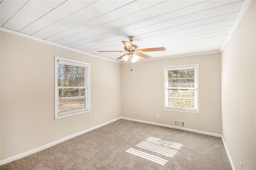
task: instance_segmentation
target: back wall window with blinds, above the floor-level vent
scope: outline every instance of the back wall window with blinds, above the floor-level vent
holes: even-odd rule
[[[164,67],[164,110],[199,113],[198,64]]]

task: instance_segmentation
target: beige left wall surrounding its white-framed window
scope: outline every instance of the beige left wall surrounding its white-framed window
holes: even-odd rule
[[[120,63],[0,36],[1,160],[120,117]],[[91,112],[54,121],[54,56],[91,63]]]

